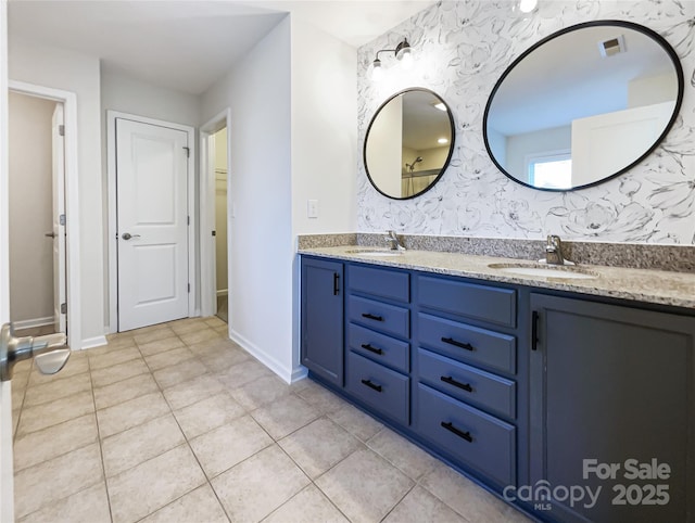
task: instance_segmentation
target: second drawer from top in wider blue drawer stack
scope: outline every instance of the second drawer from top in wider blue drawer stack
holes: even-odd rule
[[[514,374],[516,337],[420,312],[418,341],[426,347],[460,361]]]

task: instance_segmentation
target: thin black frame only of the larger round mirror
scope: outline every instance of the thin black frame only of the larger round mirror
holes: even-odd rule
[[[609,176],[606,176],[606,177],[602,178],[601,180],[596,180],[596,181],[591,182],[591,183],[585,183],[583,186],[572,187],[570,189],[553,189],[553,188],[545,188],[545,187],[534,187],[534,186],[531,186],[530,183],[526,183],[526,182],[515,178],[509,173],[507,173],[507,170],[504,167],[502,167],[502,165],[500,165],[500,163],[496,161],[496,158],[492,154],[492,150],[490,148],[490,142],[488,141],[488,113],[490,112],[490,106],[492,105],[492,101],[493,101],[493,99],[495,97],[495,93],[500,89],[500,86],[502,86],[502,84],[504,82],[505,78],[511,73],[511,71],[519,63],[521,63],[523,61],[523,59],[526,56],[531,54],[533,51],[535,51],[541,46],[549,42],[551,40],[554,40],[555,38],[558,38],[558,37],[560,37],[563,35],[566,35],[567,33],[572,33],[574,30],[583,29],[583,28],[586,28],[586,27],[606,26],[606,25],[608,25],[608,26],[612,25],[612,26],[617,26],[617,27],[627,27],[629,29],[636,30],[639,33],[642,33],[642,34],[650,37],[654,41],[656,41],[659,46],[661,46],[661,48],[666,51],[666,53],[671,59],[671,62],[673,62],[673,68],[675,69],[675,75],[678,76],[678,98],[675,100],[675,106],[673,107],[673,114],[671,115],[671,118],[669,119],[669,123],[666,125],[666,127],[664,128],[664,131],[659,135],[659,137],[655,140],[654,144],[650,148],[648,148],[644,152],[644,154],[642,154],[642,156],[640,156],[639,158],[636,158],[634,162],[632,162],[628,166],[623,167],[622,169],[618,170],[617,173],[615,173],[612,175],[609,175]],[[519,183],[521,186],[526,186],[526,187],[528,187],[530,189],[535,189],[536,191],[548,191],[548,192],[568,192],[568,191],[577,191],[577,190],[580,190],[580,189],[586,189],[586,188],[590,188],[590,187],[594,187],[594,186],[597,186],[598,183],[603,183],[606,180],[609,180],[611,178],[620,176],[623,173],[627,173],[628,170],[633,168],[635,165],[640,164],[647,156],[649,156],[649,154],[652,154],[659,146],[661,141],[664,141],[664,139],[666,138],[668,132],[673,127],[673,124],[675,123],[675,119],[678,118],[678,115],[680,114],[681,104],[683,103],[683,91],[684,91],[684,88],[685,88],[685,81],[684,81],[684,77],[683,77],[683,66],[681,65],[681,60],[679,59],[678,53],[675,52],[673,47],[666,40],[666,38],[664,38],[661,35],[659,35],[655,30],[649,29],[648,27],[645,27],[645,26],[643,26],[641,24],[635,24],[634,22],[627,22],[627,21],[621,21],[621,20],[598,20],[598,21],[584,22],[584,23],[581,23],[581,24],[576,24],[576,25],[572,25],[572,26],[569,26],[569,27],[565,27],[565,28],[563,28],[563,29],[560,29],[560,30],[558,30],[556,33],[553,33],[552,35],[543,38],[542,40],[538,41],[536,43],[531,46],[529,49],[523,51],[523,53],[521,53],[521,55],[519,58],[517,58],[514,62],[511,62],[511,64],[505,69],[505,72],[502,74],[500,79],[496,81],[495,86],[492,89],[492,92],[490,93],[490,97],[488,98],[488,103],[485,104],[485,111],[483,113],[483,119],[482,119],[482,133],[483,133],[483,141],[485,143],[485,150],[488,151],[488,155],[490,156],[490,160],[492,160],[492,162],[502,171],[503,175],[505,175],[507,178],[511,179],[516,183]]]

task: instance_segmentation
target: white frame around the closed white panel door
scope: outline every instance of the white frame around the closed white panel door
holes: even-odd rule
[[[167,127],[184,131],[188,135],[190,154],[188,155],[188,281],[190,292],[188,293],[188,316],[199,316],[195,309],[195,129],[188,125],[174,124],[161,119],[148,118],[146,116],[119,111],[106,111],[106,173],[109,186],[109,333],[118,331],[118,245],[117,245],[117,224],[116,214],[116,118],[129,119],[140,124],[150,124],[160,127]]]

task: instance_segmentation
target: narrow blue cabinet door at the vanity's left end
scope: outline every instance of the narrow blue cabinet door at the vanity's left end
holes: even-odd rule
[[[343,385],[343,264],[302,258],[302,365]]]

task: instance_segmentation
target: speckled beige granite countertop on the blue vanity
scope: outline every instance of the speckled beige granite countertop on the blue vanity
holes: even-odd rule
[[[350,251],[353,252],[351,253]],[[695,309],[695,273],[692,272],[581,265],[577,266],[579,271],[589,272],[595,278],[561,278],[560,271],[558,271],[557,277],[549,278],[521,276],[489,267],[490,264],[539,266],[539,264],[528,259],[430,251],[405,251],[396,256],[375,256],[361,254],[358,251],[381,250],[365,245],[343,245],[300,248],[299,253],[349,262],[363,262],[384,267],[415,269],[438,275],[478,278],[501,283],[515,283]]]

